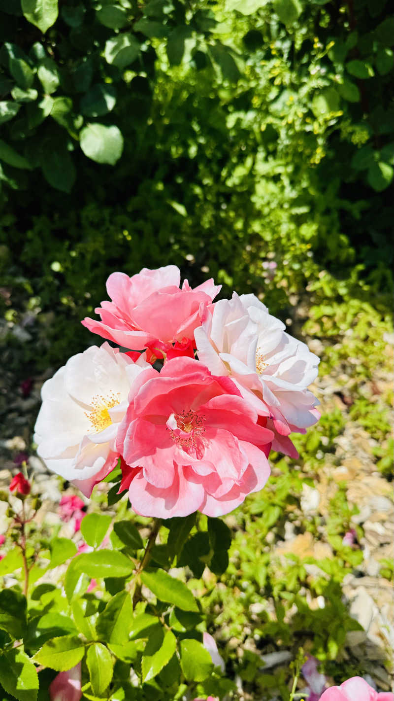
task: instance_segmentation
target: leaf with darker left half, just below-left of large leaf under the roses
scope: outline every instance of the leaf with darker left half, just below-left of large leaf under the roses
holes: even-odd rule
[[[120,645],[129,639],[132,620],[132,597],[129,592],[118,592],[97,619],[97,635],[109,643]]]

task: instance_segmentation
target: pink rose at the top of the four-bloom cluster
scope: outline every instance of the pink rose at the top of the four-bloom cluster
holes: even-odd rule
[[[137,351],[150,348],[157,358],[174,341],[193,340],[206,306],[220,290],[213,280],[190,287],[187,280],[179,289],[181,273],[174,265],[149,270],[129,278],[112,273],[106,289],[112,301],[101,302],[94,311],[101,321],[85,318],[83,325],[104,339]]]

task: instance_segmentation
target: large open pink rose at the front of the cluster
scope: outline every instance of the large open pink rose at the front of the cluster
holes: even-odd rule
[[[257,419],[234,383],[198,360],[174,358],[160,374],[144,370],[116,442],[134,511],[164,519],[196,510],[220,516],[262,489],[272,431]]]

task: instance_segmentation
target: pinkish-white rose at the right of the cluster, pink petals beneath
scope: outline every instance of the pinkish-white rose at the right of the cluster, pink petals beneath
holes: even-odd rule
[[[297,458],[288,435],[316,423],[319,403],[307,389],[319,359],[285,332],[254,294],[220,299],[195,330],[199,360],[216,375],[229,375],[241,395],[274,431],[272,449]]]

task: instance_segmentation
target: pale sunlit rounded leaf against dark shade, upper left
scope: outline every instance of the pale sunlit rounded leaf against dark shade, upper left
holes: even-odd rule
[[[122,133],[115,125],[88,124],[80,132],[80,148],[87,158],[92,158],[96,163],[115,165],[122,156]]]

